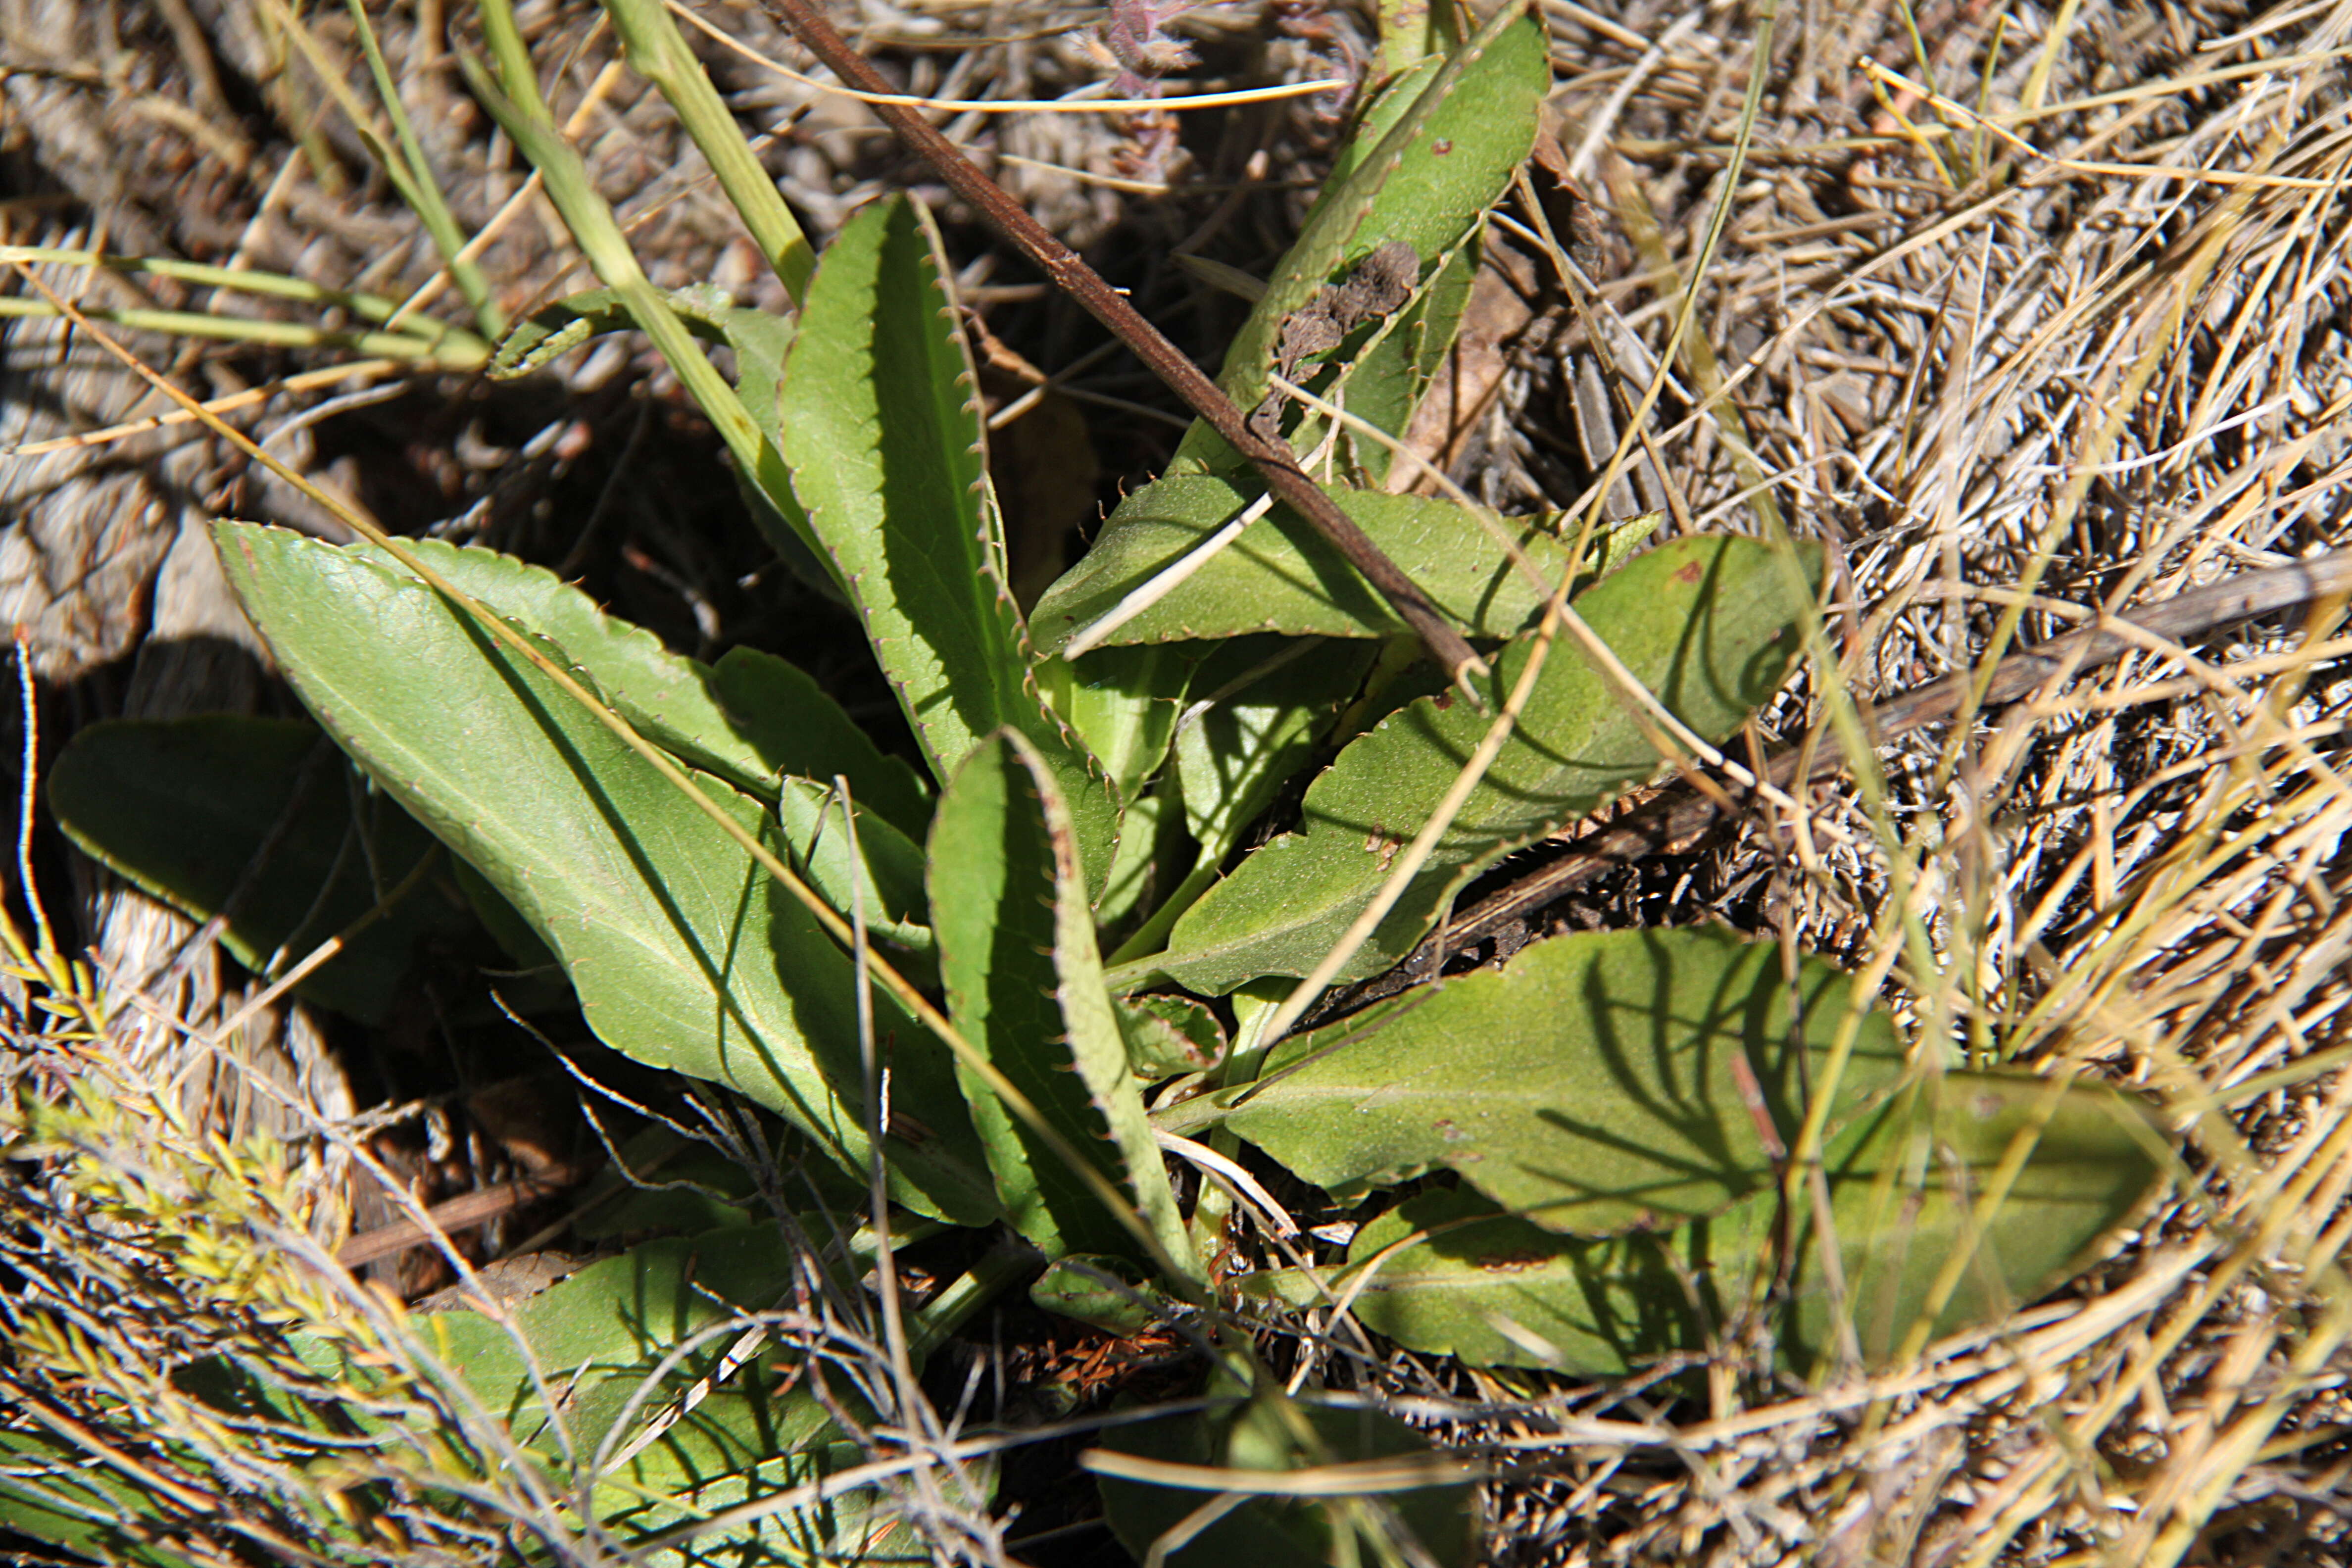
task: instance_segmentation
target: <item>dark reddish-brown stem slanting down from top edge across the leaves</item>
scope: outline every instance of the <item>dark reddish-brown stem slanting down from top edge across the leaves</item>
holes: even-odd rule
[[[842,38],[830,21],[826,21],[809,0],[762,0],[771,16],[807,45],[809,54],[821,59],[833,68],[837,78],[856,87],[858,92],[884,94],[894,89],[882,75],[868,66],[849,40]],[[1004,193],[988,174],[981,172],[969,158],[957,150],[953,141],[941,136],[931,125],[903,103],[873,103],[870,106],[882,122],[898,132],[924,162],[938,169],[938,176],[948,186],[971,202],[988,226],[1000,235],[1011,240],[1030,261],[1035,261],[1047,277],[1054,280],[1063,294],[1075,299],[1087,313],[1108,327],[1122,343],[1127,343],[1143,364],[1152,369],[1160,381],[1169,386],[1171,393],[1183,397],[1197,416],[1209,421],[1209,428],[1225,437],[1235,451],[1258,465],[1265,475],[1265,487],[1275,491],[1275,498],[1289,505],[1294,512],[1308,520],[1308,524],[1322,534],[1334,550],[1338,550],[1350,567],[1364,574],[1364,581],[1381,590],[1390,609],[1414,628],[1421,644],[1430,651],[1446,675],[1454,677],[1463,691],[1472,698],[1479,693],[1470,689],[1470,675],[1486,675],[1486,661],[1479,658],[1470,644],[1446,625],[1444,616],[1430,604],[1430,597],[1414,585],[1414,578],[1397,569],[1397,562],[1381,552],[1381,545],[1364,536],[1364,529],[1355,527],[1348,512],[1338,510],[1338,503],[1298,468],[1298,458],[1289,447],[1279,442],[1268,442],[1249,428],[1242,409],[1235,407],[1230,397],[1211,381],[1192,360],[1188,360],[1174,343],[1160,336],[1160,329],[1143,320],[1127,296],[1103,282],[1103,275],[1087,266],[1077,252],[1056,240],[1037,223],[1023,207]]]

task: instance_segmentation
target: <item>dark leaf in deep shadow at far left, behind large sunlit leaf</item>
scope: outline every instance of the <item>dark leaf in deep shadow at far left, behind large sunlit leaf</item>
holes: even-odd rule
[[[191,919],[228,914],[221,943],[256,973],[367,914],[433,851],[433,835],[369,795],[306,719],[92,724],[49,771],[49,811],[82,853]],[[428,940],[480,940],[463,896],[440,877],[296,990],[383,1023]]]

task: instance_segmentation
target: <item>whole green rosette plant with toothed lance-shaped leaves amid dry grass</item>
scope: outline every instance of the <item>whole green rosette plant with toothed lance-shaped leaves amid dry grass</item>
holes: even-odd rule
[[[529,369],[602,329],[654,334],[779,550],[858,611],[922,773],[790,665],[668,654],[541,569],[223,524],[247,611],[376,792],[348,823],[296,813],[280,849],[273,875],[327,886],[320,910],[336,914],[301,900],[230,912],[228,867],[280,816],[254,802],[299,795],[315,766],[299,729],[92,731],[52,792],[78,842],[188,907],[230,912],[235,950],[259,966],[306,929],[390,907],[376,945],[397,966],[414,933],[383,867],[423,863],[421,827],[466,867],[430,910],[459,919],[468,898],[492,929],[543,945],[614,1051],[727,1084],[906,1213],[1009,1225],[1056,1265],[1042,1291],[1056,1309],[1178,1316],[1216,1352],[1221,1403],[1141,1427],[1112,1443],[1124,1462],[1101,1465],[1105,1505],[1145,1549],[1249,1540],[1324,1561],[1428,1535],[1430,1509],[1390,1507],[1374,1472],[1348,1469],[1418,1439],[1287,1399],[1251,1363],[1244,1307],[1345,1305],[1416,1349],[1573,1373],[1726,1331],[1769,1335],[1799,1371],[1886,1361],[2049,1288],[2145,1194],[2161,1145],[2131,1100],[1964,1070],[1933,1039],[1905,1053],[1865,987],[1715,931],[1555,938],[1287,1037],[1310,992],[1406,957],[1475,875],[1644,783],[1661,750],[1726,743],[1785,679],[1818,590],[1804,545],[1686,536],[1621,562],[1581,538],[1590,524],[1359,484],[1385,470],[1381,435],[1402,433],[1444,355],[1484,212],[1526,155],[1545,82],[1534,24],[1505,16],[1371,106],[1223,376],[1237,407],[1270,411],[1282,440],[1343,475],[1329,501],[1456,635],[1494,649],[1482,712],[1451,670],[1385,656],[1409,654],[1409,621],[1296,512],[1272,508],[1207,555],[1261,491],[1207,425],[1023,618],[922,209],[866,209],[814,275],[790,261],[797,233],[776,235],[767,252],[802,299],[793,322],[663,296],[614,249],[501,16],[485,9],[496,78],[473,63],[470,80],[609,284],[520,327],[501,362]],[[668,56],[663,73],[680,94],[699,80]],[[1411,247],[1406,303],[1301,350],[1294,322],[1397,242]],[[694,336],[736,350],[734,386]],[[1555,649],[1562,625],[1583,642]],[[1087,651],[1065,656],[1082,635]],[[151,769],[132,759],[167,750],[207,759],[181,778],[223,804],[226,853],[188,863],[143,837]],[[1296,827],[1244,851],[1244,830],[1322,757]],[[350,827],[374,846],[365,889],[336,882]],[[381,980],[360,964],[322,969],[318,997],[365,1011]],[[1221,1018],[1185,992],[1230,1004]],[[73,1133],[38,1124],[28,1147],[94,1143]],[[1258,1199],[1221,1192],[1188,1215],[1164,1150],[1192,1159],[1195,1135],[1336,1199],[1446,1180],[1371,1220],[1345,1262],[1298,1258],[1235,1291],[1204,1260],[1230,1204]],[[158,1208],[125,1199],[141,1222]],[[757,1321],[795,1286],[760,1237],[656,1241],[508,1321],[390,1324],[365,1356],[306,1340],[320,1382],[301,1399],[285,1394],[294,1366],[238,1396],[289,1429],[348,1420],[376,1436],[390,1422],[369,1406],[407,1399],[468,1434],[452,1490],[513,1465],[564,1500],[567,1528],[811,1552],[769,1533],[788,1509],[743,1509],[779,1486],[797,1497],[837,1462],[842,1410],[771,1399],[790,1373],[764,1354],[710,1371],[720,1394],[689,1399],[680,1375],[741,1331],[729,1305]],[[689,1255],[703,1260],[691,1288]],[[1002,1284],[967,1281],[906,1354]],[[1345,1502],[1242,1502],[1242,1472],[1282,1493],[1327,1465],[1359,1481]],[[1399,1495],[1463,1479],[1442,1465],[1378,1476],[1402,1476]],[[1188,1486],[1209,1502],[1171,1502]],[[9,1495],[16,1528],[80,1521],[52,1493]]]

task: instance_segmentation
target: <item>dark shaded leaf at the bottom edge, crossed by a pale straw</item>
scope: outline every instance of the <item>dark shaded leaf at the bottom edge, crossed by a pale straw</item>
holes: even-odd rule
[[[1289,1410],[1277,1408],[1289,1403]],[[1310,1429],[1301,1443],[1291,1422]],[[1423,1434],[1395,1415],[1362,1403],[1284,1401],[1261,1392],[1249,1403],[1207,1415],[1167,1415],[1103,1432],[1112,1455],[1207,1469],[1294,1472],[1371,1460],[1437,1460]],[[1272,1474],[1268,1479],[1272,1479]],[[1136,1561],[1218,1493],[1152,1486],[1124,1476],[1096,1479],[1103,1516]],[[1378,1509],[1378,1512],[1374,1512]],[[1425,1561],[1470,1561],[1477,1507],[1458,1469],[1435,1472],[1425,1486],[1385,1490],[1374,1500],[1261,1495],[1240,1502],[1185,1544],[1167,1554],[1171,1568],[1324,1568],[1383,1561],[1402,1530]],[[1416,1559],[1404,1559],[1416,1561]]]

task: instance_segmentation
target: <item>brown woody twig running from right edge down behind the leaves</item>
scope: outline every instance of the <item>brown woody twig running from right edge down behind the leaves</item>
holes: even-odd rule
[[[2317,559],[2296,562],[2293,567],[2249,571],[2230,578],[2227,583],[2213,583],[2211,588],[2199,588],[2166,599],[2164,604],[2138,607],[2129,616],[2112,616],[2112,621],[2138,628],[2150,637],[2185,642],[2201,632],[2211,632],[2213,628],[2230,625],[2232,621],[2251,621],[2253,616],[2267,616],[2279,609],[2310,604],[2312,599],[2343,592],[2352,592],[2352,550],[2336,550]],[[2122,658],[2136,646],[2143,646],[2143,642],[2093,625],[2089,630],[2070,632],[2065,637],[2023,649],[1994,665],[1992,679],[1985,686],[1983,705],[1992,708],[1997,703],[2013,703],[2023,696],[2032,696],[2044,684],[2063,684],[2084,670]],[[1922,686],[1919,691],[1889,698],[1870,710],[1867,729],[1884,743],[1915,729],[1950,719],[1959,712],[1962,698],[1973,679],[1973,670],[1962,670],[1959,675],[1947,675],[1945,679]],[[1818,783],[1835,776],[1844,764],[1846,755],[1837,738],[1823,733],[1813,741],[1811,750],[1799,745],[1773,755],[1764,776],[1785,790],[1797,783],[1799,773],[1804,773],[1806,783]],[[1731,790],[1726,799],[1733,806],[1752,799],[1752,790],[1726,788]],[[1317,1023],[1327,1023],[1343,1011],[1355,1011],[1369,1001],[1390,997],[1406,985],[1432,978],[1446,954],[1475,947],[1489,936],[1503,931],[1510,922],[1541,910],[1555,898],[1573,893],[1604,872],[1635,860],[1679,856],[1696,849],[1708,835],[1722,827],[1729,816],[1731,811],[1726,811],[1724,802],[1712,795],[1700,795],[1689,788],[1661,792],[1656,799],[1642,804],[1606,827],[1597,827],[1595,832],[1571,842],[1566,853],[1555,860],[1543,863],[1526,877],[1519,877],[1510,886],[1498,889],[1458,912],[1454,919],[1442,924],[1435,936],[1421,943],[1411,957],[1399,961],[1388,973],[1367,980],[1352,992],[1334,992],[1327,997]]]

